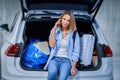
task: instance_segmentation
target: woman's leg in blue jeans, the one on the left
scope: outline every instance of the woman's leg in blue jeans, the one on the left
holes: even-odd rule
[[[58,62],[53,58],[48,65],[48,80],[56,80],[58,67]]]

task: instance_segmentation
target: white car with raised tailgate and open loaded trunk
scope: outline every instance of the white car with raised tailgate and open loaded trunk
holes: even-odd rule
[[[112,51],[95,16],[103,0],[21,0],[18,12],[1,48],[1,80],[46,80],[47,71],[31,69],[21,64],[30,38],[48,41],[51,28],[64,10],[72,10],[78,33],[95,37],[92,64],[77,66],[78,74],[68,80],[113,80]]]

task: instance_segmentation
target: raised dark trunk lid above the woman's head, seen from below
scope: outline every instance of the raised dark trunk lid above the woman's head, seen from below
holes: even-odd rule
[[[23,18],[31,10],[74,10],[93,14],[94,19],[102,2],[103,0],[21,0],[21,9]]]

